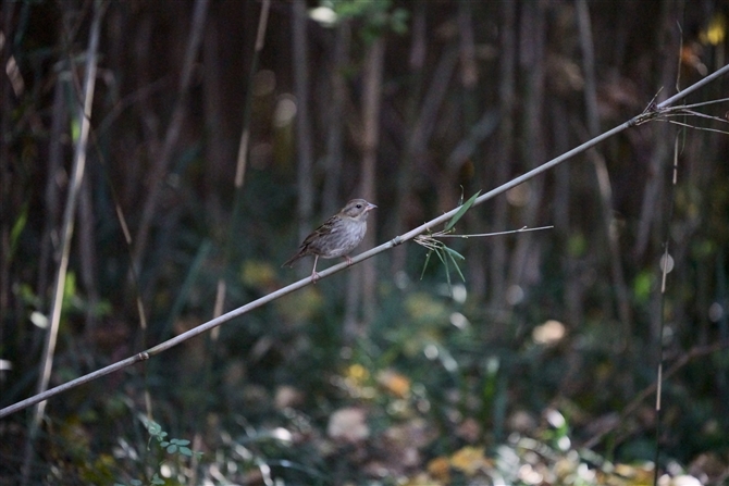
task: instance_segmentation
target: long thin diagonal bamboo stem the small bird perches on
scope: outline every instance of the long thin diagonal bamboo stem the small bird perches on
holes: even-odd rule
[[[668,107],[670,107],[672,103],[677,102],[678,100],[680,100],[682,98],[685,98],[688,95],[696,91],[699,88],[705,86],[706,84],[711,83],[714,79],[717,79],[718,77],[720,77],[720,76],[722,76],[727,73],[729,73],[729,64],[727,64],[726,66],[716,71],[715,73],[706,76],[704,79],[700,80],[699,83],[696,83],[696,84],[688,87],[687,89],[674,95],[672,97],[670,97],[666,101],[657,104],[650,112],[650,113],[656,113],[656,114],[653,117],[648,117],[648,119],[660,120],[662,113],[665,112],[665,110]],[[579,147],[576,147],[572,150],[569,150],[568,152],[566,152],[566,153],[564,153],[564,154],[561,154],[561,155],[559,155],[559,157],[540,165],[539,167],[535,167],[535,169],[529,171],[528,173],[526,173],[526,174],[523,174],[523,175],[521,175],[521,176],[519,176],[515,179],[511,179],[508,183],[506,183],[506,184],[504,184],[504,185],[502,185],[502,186],[499,186],[495,189],[492,189],[491,191],[489,191],[489,192],[484,194],[483,196],[479,197],[478,199],[475,199],[475,201],[473,202],[473,205],[481,204],[481,203],[483,203],[483,202],[485,202],[490,199],[493,199],[494,197],[496,197],[501,194],[506,192],[507,190],[511,189],[512,187],[516,187],[519,184],[522,184],[522,183],[524,183],[524,182],[527,182],[527,180],[529,180],[529,179],[548,171],[549,169],[552,169],[552,167],[571,159],[572,157],[574,157],[579,153],[582,153],[585,150],[596,146],[597,144],[600,144],[600,142],[602,142],[602,141],[604,141],[604,140],[606,140],[606,139],[608,139],[608,138],[610,138],[610,137],[613,137],[613,136],[615,136],[615,135],[617,135],[621,132],[625,132],[626,129],[628,129],[632,126],[635,126],[638,123],[644,122],[645,119],[646,119],[646,112],[643,112],[643,113],[634,116],[633,119],[625,122],[623,124],[618,125],[615,128],[613,128],[608,132],[605,132],[604,134],[591,139],[589,141],[585,141],[584,144],[580,145]],[[417,228],[413,228],[413,229],[409,230],[408,233],[406,233],[404,235],[396,236],[392,240],[390,240],[385,244],[382,244],[379,247],[372,248],[369,251],[364,251],[364,252],[358,254],[357,257],[353,258],[351,263],[353,264],[359,263],[363,260],[367,260],[371,257],[374,257],[378,253],[382,253],[383,251],[387,251],[387,250],[390,250],[390,249],[392,249],[392,248],[394,248],[398,245],[401,245],[401,244],[415,238],[416,236],[420,235],[421,233],[424,233],[424,232],[427,232],[427,230],[429,230],[429,229],[431,229],[431,228],[433,228],[433,227],[435,227],[440,224],[443,224],[443,223],[447,222],[454,215],[456,215],[456,213],[459,210],[460,210],[460,207],[455,208],[455,209],[440,215],[438,217],[435,217],[435,219],[418,226]],[[325,278],[325,277],[328,277],[330,275],[333,275],[337,272],[342,272],[347,266],[348,266],[348,264],[346,262],[343,262],[343,263],[333,265],[333,266],[320,272],[319,275],[320,275],[321,278]],[[63,391],[75,388],[79,385],[91,382],[96,378],[108,375],[108,374],[113,373],[115,371],[122,370],[122,369],[124,369],[126,366],[129,366],[134,363],[137,363],[139,361],[148,360],[149,358],[151,358],[155,354],[158,354],[158,353],[160,353],[162,351],[165,351],[165,350],[168,350],[168,349],[170,349],[174,346],[177,346],[178,344],[184,342],[191,337],[195,337],[195,336],[198,336],[202,333],[206,333],[206,332],[208,332],[208,331],[210,331],[214,327],[218,327],[219,325],[221,325],[221,324],[223,324],[227,321],[231,321],[235,317],[244,315],[244,314],[252,311],[254,309],[258,309],[259,307],[262,307],[262,306],[264,306],[264,304],[267,304],[267,303],[269,303],[273,300],[276,300],[276,299],[285,296],[285,295],[292,294],[293,291],[296,291],[300,288],[304,288],[307,285],[311,285],[311,278],[309,278],[309,277],[302,278],[302,279],[300,279],[300,281],[298,281],[294,284],[291,284],[291,285],[288,285],[284,288],[281,288],[279,290],[276,290],[272,294],[269,294],[264,297],[261,297],[258,300],[255,300],[255,301],[249,302],[249,303],[247,303],[243,307],[234,309],[231,312],[227,312],[226,314],[223,314],[219,317],[215,317],[211,321],[208,321],[203,324],[200,324],[199,326],[194,327],[194,328],[187,331],[186,333],[183,333],[178,336],[175,336],[172,339],[169,339],[164,342],[161,342],[161,344],[155,346],[153,348],[150,348],[146,351],[137,353],[137,354],[135,354],[131,358],[127,358],[127,359],[123,360],[123,361],[119,361],[114,364],[110,364],[109,366],[97,370],[97,371],[95,371],[92,373],[89,373],[85,376],[81,376],[76,379],[64,383],[63,385],[59,385],[55,388],[52,388],[48,391],[35,395],[35,396],[33,396],[30,398],[27,398],[25,400],[22,400],[17,403],[5,407],[4,409],[0,410],[0,419],[3,418],[3,416],[10,415],[11,413],[17,412],[18,410],[23,410],[27,407],[30,407],[35,403],[38,403],[40,401],[47,400],[48,398],[53,397],[55,395],[59,395]]]

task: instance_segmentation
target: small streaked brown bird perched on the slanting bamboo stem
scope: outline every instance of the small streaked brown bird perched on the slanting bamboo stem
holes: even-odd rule
[[[317,262],[321,258],[344,257],[347,263],[351,265],[349,252],[362,242],[364,233],[367,233],[367,213],[376,205],[367,202],[364,199],[353,199],[347,205],[326,220],[326,223],[319,226],[313,233],[306,237],[299,251],[288,259],[283,266],[292,264],[307,254],[313,254],[313,270],[311,271],[311,282],[314,284],[319,279],[317,273]]]

